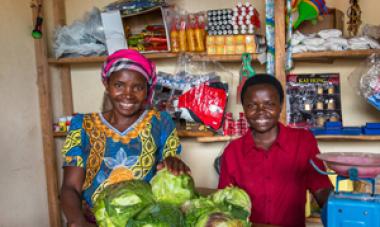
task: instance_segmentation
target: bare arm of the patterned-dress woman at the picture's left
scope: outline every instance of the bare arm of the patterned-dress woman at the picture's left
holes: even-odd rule
[[[86,221],[82,212],[81,192],[84,176],[81,167],[64,167],[61,206],[69,227],[95,226]]]

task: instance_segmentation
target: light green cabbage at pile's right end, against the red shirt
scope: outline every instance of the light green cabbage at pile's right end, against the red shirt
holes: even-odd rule
[[[216,191],[210,197],[214,203],[227,206],[231,211],[241,212],[239,210],[242,209],[247,217],[251,214],[251,199],[243,189],[230,186]]]

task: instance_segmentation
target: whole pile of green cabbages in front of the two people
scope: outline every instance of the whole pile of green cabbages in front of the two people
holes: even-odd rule
[[[149,183],[124,181],[106,187],[94,202],[100,227],[248,227],[251,201],[237,187],[202,197],[187,174],[163,169]]]

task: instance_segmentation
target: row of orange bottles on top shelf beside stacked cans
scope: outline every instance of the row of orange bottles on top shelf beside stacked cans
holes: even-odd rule
[[[172,22],[170,30],[172,52],[205,51],[205,17],[203,14],[181,16]]]

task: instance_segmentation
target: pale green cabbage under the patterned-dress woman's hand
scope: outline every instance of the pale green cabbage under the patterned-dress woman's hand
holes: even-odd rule
[[[164,168],[157,172],[150,183],[157,202],[180,206],[185,201],[197,197],[194,180],[188,174],[176,176]]]

